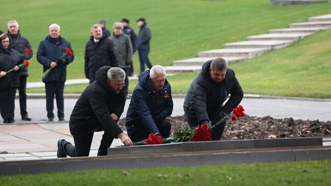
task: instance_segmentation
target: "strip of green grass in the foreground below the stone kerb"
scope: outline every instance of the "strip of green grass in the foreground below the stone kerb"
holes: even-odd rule
[[[1,185],[329,185],[331,160],[86,170],[0,177]],[[126,171],[127,173],[123,173]],[[128,175],[129,174],[129,175]]]

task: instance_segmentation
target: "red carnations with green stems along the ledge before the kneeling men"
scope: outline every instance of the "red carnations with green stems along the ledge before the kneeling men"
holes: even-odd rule
[[[239,117],[245,116],[243,113],[244,111],[245,110],[243,109],[242,105],[239,105],[237,108],[233,109],[230,114],[226,114],[222,119],[216,122],[216,124],[212,125],[211,128],[209,128],[207,124],[202,124],[195,129],[186,125],[176,130],[173,137],[162,138],[160,136],[150,134],[147,139],[140,142],[135,142],[133,145],[156,145],[173,142],[211,141],[211,131],[213,128],[230,118],[232,121],[235,121]]]

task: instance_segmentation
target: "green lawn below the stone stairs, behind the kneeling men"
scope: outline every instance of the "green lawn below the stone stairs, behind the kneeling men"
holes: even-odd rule
[[[230,65],[245,93],[274,96],[331,98],[331,30],[319,32],[280,50]],[[195,73],[168,76],[172,92],[185,94]],[[137,81],[130,81],[132,92]],[[86,85],[65,87],[81,93]],[[44,92],[44,88],[27,92]]]

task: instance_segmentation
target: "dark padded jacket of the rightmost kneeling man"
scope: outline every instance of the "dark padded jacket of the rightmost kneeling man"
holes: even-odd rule
[[[183,104],[184,111],[196,114],[199,123],[209,121],[219,110],[230,113],[243,97],[243,91],[233,70],[228,68],[222,82],[217,83],[211,79],[209,73],[211,61],[203,64],[202,71],[191,83]],[[231,94],[230,99],[223,106],[229,94]]]

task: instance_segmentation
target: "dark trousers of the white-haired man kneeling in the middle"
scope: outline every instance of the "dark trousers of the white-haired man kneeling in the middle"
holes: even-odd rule
[[[166,118],[158,119],[158,121],[154,121],[161,137],[168,138],[171,130],[171,123]],[[134,124],[133,124],[134,126]],[[148,135],[151,134],[150,131],[146,130],[146,128],[128,128],[128,136],[132,142],[139,142],[148,138]]]

